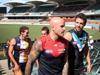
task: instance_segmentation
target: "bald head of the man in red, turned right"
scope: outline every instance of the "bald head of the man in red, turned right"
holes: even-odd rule
[[[65,31],[65,20],[60,17],[52,17],[50,19],[51,30],[57,34],[62,36]]]

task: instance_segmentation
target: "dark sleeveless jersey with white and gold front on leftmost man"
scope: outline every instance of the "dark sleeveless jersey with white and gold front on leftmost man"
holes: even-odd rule
[[[31,40],[29,38],[21,40],[15,37],[16,44],[14,46],[14,58],[18,63],[24,63],[28,60],[28,53],[30,51]]]

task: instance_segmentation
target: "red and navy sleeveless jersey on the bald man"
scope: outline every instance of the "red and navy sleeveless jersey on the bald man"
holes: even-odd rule
[[[62,75],[65,64],[68,42],[62,37],[52,40],[48,35],[42,41],[42,52],[39,56],[39,75]]]

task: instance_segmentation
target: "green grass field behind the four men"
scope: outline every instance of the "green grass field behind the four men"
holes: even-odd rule
[[[5,42],[7,39],[10,39],[12,37],[15,37],[19,34],[19,28],[22,25],[7,25],[7,24],[1,24],[0,25],[0,43]],[[27,25],[29,27],[29,35],[32,40],[34,40],[35,37],[40,36],[40,30],[43,27],[43,25]],[[48,26],[49,27],[49,26]],[[67,30],[71,29],[69,27],[66,27]],[[100,32],[96,30],[90,30],[85,29],[90,35],[93,36],[93,39],[100,39]]]

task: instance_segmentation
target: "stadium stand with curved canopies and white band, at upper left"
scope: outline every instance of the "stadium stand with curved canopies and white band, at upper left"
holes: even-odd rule
[[[34,19],[34,17],[47,17],[50,12],[52,12],[57,4],[47,3],[41,1],[29,1],[25,4],[21,3],[7,3],[9,6],[12,6],[10,11],[5,15],[9,19],[15,18],[26,18]]]

